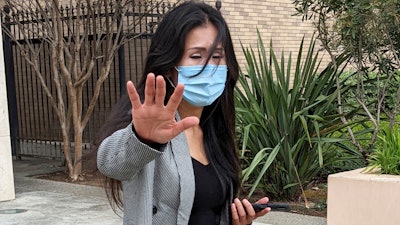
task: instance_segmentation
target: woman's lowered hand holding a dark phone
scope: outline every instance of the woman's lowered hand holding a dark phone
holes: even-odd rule
[[[269,199],[267,197],[259,199],[256,203],[265,204],[268,203]],[[270,208],[265,208],[259,212],[255,212],[253,206],[247,199],[239,200],[235,198],[231,204],[232,212],[232,224],[233,225],[246,225],[251,224],[254,219],[271,211]]]

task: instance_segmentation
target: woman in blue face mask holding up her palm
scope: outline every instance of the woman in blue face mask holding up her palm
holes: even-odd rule
[[[124,224],[250,224],[270,211],[255,213],[235,198],[238,70],[217,10],[189,1],[165,15],[144,76],[137,89],[127,83],[97,153],[109,199],[123,203]]]

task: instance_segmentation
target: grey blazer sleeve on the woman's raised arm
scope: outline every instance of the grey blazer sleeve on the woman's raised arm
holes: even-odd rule
[[[123,181],[134,177],[147,163],[163,154],[162,150],[141,142],[129,124],[101,142],[97,166],[104,175]]]

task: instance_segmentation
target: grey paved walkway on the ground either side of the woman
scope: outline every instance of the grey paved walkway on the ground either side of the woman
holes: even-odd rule
[[[57,171],[55,161],[14,160],[16,199],[0,202],[1,225],[118,225],[122,219],[110,208],[99,187],[29,177]],[[288,212],[271,212],[254,225],[326,225],[326,219]]]

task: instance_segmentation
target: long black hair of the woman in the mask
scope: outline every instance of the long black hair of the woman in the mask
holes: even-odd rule
[[[183,56],[187,34],[196,27],[211,23],[218,31],[208,60],[214,49],[222,44],[228,66],[228,77],[222,95],[210,106],[203,109],[200,126],[204,134],[204,146],[210,163],[216,168],[224,187],[232,185],[234,193],[239,189],[239,159],[235,144],[235,106],[233,90],[239,74],[239,66],[233,49],[228,26],[219,11],[198,1],[184,2],[169,11],[154,33],[147,55],[142,77],[137,84],[139,95],[144,97],[144,87],[148,73],[164,76],[171,74]],[[174,87],[167,83],[165,101],[169,100]],[[142,99],[143,100],[143,99]],[[132,121],[129,98],[123,96],[114,107],[109,121],[99,132],[95,148],[103,139]],[[106,178],[106,192],[112,206],[122,208],[121,182]],[[227,189],[225,189],[227,190]],[[114,208],[114,207],[113,207]],[[115,208],[114,208],[115,209]]]

